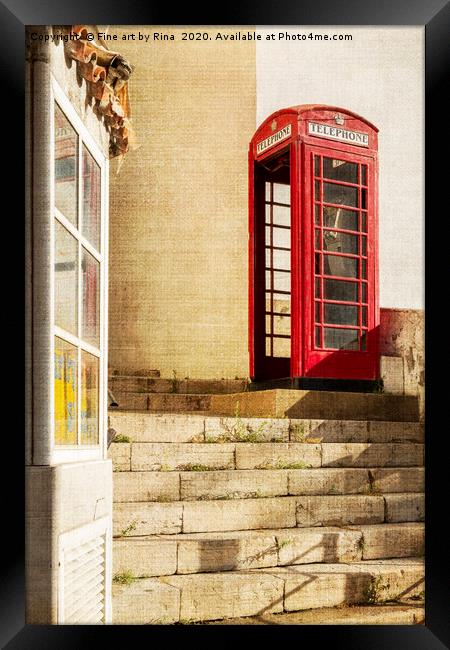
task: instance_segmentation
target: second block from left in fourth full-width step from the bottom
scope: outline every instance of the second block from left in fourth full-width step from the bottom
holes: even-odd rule
[[[248,499],[287,495],[287,470],[181,472],[181,499]]]

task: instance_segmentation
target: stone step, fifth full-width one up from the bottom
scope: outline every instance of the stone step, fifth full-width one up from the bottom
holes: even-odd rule
[[[113,442],[115,471],[212,471],[313,467],[417,467],[421,443]]]

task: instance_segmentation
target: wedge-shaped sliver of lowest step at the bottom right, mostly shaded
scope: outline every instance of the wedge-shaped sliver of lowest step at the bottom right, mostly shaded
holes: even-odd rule
[[[192,623],[195,625],[195,623]],[[260,614],[197,625],[425,625],[425,608],[414,599],[389,605],[321,607],[289,614]]]

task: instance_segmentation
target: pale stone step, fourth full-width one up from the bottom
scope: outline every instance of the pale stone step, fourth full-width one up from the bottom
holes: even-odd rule
[[[114,501],[204,501],[423,492],[423,467],[115,472]]]

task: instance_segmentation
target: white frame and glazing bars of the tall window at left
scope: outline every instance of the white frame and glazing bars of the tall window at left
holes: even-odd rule
[[[98,164],[100,168],[100,253],[86,240],[81,234],[79,228],[76,228],[63,214],[55,207],[55,103],[57,103],[65,114],[74,131],[78,135],[78,149],[77,149],[77,168],[78,168],[78,211],[80,210],[82,193],[81,193],[81,178],[82,178],[82,151],[83,145]],[[109,174],[109,161],[101,151],[99,145],[89,133],[83,124],[78,113],[71,104],[69,98],[62,90],[56,79],[51,77],[51,92],[50,92],[50,322],[51,322],[51,341],[50,341],[50,377],[51,386],[50,391],[50,457],[51,464],[56,465],[59,463],[67,462],[80,462],[88,460],[101,460],[106,458],[107,454],[107,404],[108,404],[108,174]],[[78,212],[79,214],[79,212]],[[78,321],[81,318],[81,301],[82,301],[82,274],[79,272],[81,268],[81,250],[85,248],[99,263],[100,263],[100,291],[99,291],[99,318],[100,318],[100,345],[97,349],[95,346],[88,344],[78,336],[70,334],[66,330],[61,329],[55,324],[55,224],[56,221],[61,223],[77,240],[78,245]],[[79,220],[78,225],[80,226]],[[78,322],[78,331],[80,331],[81,324]],[[78,441],[80,440],[80,402],[81,402],[81,351],[85,350],[99,358],[99,443],[97,445],[57,445],[55,443],[55,398],[54,398],[54,366],[55,366],[55,336],[62,338],[68,343],[72,343],[77,348],[78,358],[78,379],[77,379],[77,427],[78,427]]]

